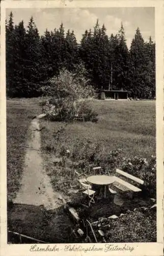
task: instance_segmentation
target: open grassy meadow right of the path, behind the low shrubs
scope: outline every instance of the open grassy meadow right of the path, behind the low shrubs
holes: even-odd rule
[[[77,142],[91,140],[108,152],[122,148],[126,157],[155,155],[155,101],[93,100],[92,105],[98,113],[97,123],[49,122],[42,132],[42,147],[53,148],[53,135],[64,126],[59,144],[70,151]]]

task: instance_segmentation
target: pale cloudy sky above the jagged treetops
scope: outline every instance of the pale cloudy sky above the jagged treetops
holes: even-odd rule
[[[28,26],[30,17],[34,17],[35,24],[42,35],[46,28],[50,31],[59,28],[63,22],[65,31],[74,30],[77,41],[86,29],[93,29],[96,19],[99,19],[100,26],[104,23],[106,34],[116,34],[120,29],[121,22],[125,29],[127,46],[130,47],[131,40],[134,37],[136,28],[140,28],[145,41],[151,35],[155,40],[155,13],[154,8],[24,8],[24,9],[6,9],[6,17],[10,12],[14,15],[14,24],[18,24],[22,19],[24,25]]]

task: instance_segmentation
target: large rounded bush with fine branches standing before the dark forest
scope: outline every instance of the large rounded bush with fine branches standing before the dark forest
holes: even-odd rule
[[[97,113],[89,104],[94,90],[85,78],[85,72],[82,64],[75,66],[73,72],[62,69],[42,88],[44,95],[49,96],[43,104],[43,111],[50,120],[66,121],[75,115],[84,115],[87,121],[97,121]]]

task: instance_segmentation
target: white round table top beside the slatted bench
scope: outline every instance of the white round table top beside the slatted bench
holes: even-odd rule
[[[93,175],[87,178],[92,184],[97,185],[108,185],[114,182],[114,176],[107,176],[107,175]]]

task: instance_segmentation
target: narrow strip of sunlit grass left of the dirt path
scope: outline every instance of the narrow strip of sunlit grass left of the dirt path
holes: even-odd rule
[[[13,199],[20,186],[28,127],[40,114],[39,99],[7,99],[7,189]]]

